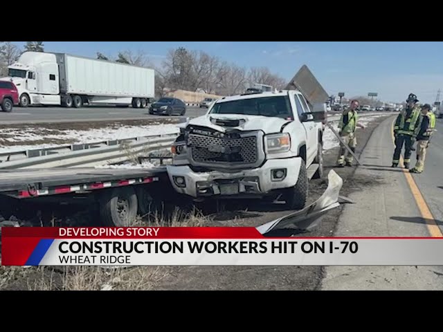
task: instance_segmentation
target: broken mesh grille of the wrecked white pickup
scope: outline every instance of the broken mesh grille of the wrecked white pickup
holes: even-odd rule
[[[257,137],[217,138],[191,133],[188,146],[197,163],[255,163],[257,162]]]

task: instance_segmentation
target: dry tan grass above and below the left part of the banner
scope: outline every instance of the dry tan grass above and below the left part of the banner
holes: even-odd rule
[[[207,222],[197,211],[184,214],[177,209],[168,220],[138,217],[134,226],[198,227]],[[168,266],[0,266],[0,290],[149,291],[169,273]]]

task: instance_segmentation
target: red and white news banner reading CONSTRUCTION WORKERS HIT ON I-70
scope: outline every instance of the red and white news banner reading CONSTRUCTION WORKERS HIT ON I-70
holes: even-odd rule
[[[443,238],[264,237],[256,228],[14,228],[3,266],[443,265]]]

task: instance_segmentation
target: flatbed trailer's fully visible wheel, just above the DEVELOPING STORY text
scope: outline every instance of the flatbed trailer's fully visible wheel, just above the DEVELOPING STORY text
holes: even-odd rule
[[[115,188],[100,199],[100,219],[109,226],[128,227],[137,216],[137,195],[133,187]]]

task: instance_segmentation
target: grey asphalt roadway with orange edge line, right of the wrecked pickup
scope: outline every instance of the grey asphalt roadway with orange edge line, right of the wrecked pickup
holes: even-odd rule
[[[372,134],[335,237],[442,237],[443,136],[433,137],[422,174],[391,168],[394,144],[390,117]],[[440,120],[437,129],[442,130]],[[413,154],[412,158],[415,158]],[[401,164],[402,165],[402,164]],[[419,188],[417,190],[416,188]],[[324,290],[443,290],[442,266],[327,266]]]

